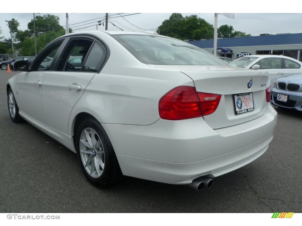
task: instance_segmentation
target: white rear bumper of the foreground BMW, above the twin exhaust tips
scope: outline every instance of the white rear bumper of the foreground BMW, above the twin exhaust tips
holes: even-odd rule
[[[268,105],[252,121],[213,130],[203,118],[149,126],[102,124],[124,175],[169,184],[217,177],[257,159],[273,138],[277,113]]]

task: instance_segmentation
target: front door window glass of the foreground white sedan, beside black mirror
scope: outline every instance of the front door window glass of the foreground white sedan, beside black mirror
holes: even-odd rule
[[[60,46],[62,45],[63,40],[57,41],[45,49],[35,60],[34,65],[32,66],[31,71],[49,71],[50,65],[53,62],[53,58],[58,52]]]

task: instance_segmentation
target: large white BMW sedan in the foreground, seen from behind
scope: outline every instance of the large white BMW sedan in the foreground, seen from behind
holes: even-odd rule
[[[80,64],[68,62],[82,57]],[[52,58],[50,64],[44,59]],[[77,153],[90,182],[120,175],[211,187],[257,159],[277,113],[269,76],[231,67],[156,33],[85,31],[61,36],[7,82],[11,120],[25,119]]]

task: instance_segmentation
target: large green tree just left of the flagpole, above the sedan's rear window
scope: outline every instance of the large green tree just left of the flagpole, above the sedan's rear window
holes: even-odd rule
[[[183,17],[180,13],[172,13],[169,20],[162,22],[159,26],[161,35],[177,39],[208,39],[213,38],[214,28],[197,15]]]

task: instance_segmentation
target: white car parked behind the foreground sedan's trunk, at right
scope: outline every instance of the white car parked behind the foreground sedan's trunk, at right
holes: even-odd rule
[[[258,71],[267,71],[271,86],[277,78],[302,73],[302,62],[291,57],[279,55],[249,55],[230,63],[233,67],[242,67]]]

